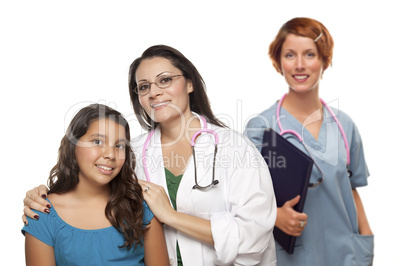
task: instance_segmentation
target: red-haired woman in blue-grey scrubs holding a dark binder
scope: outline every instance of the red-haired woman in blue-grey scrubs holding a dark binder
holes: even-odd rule
[[[296,236],[293,254],[276,246],[278,265],[371,265],[373,235],[356,188],[369,172],[356,125],[319,97],[320,80],[331,65],[333,39],[320,22],[294,18],[269,47],[288,92],[249,121],[245,135],[261,150],[272,128],[314,160],[303,213],[300,196],[278,206],[275,226]],[[290,134],[289,134],[290,133]]]

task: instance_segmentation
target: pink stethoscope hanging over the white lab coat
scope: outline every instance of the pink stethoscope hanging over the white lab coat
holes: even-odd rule
[[[200,130],[195,132],[195,134],[191,138],[191,147],[193,149],[193,158],[194,158],[194,179],[195,179],[195,185],[193,186],[193,189],[198,188],[200,190],[209,190],[212,187],[214,187],[214,186],[219,184],[219,180],[215,180],[215,162],[216,162],[216,153],[218,151],[219,137],[218,137],[218,134],[214,130],[207,128],[207,120],[205,119],[205,117],[199,115],[199,118],[200,118],[200,121],[202,122],[203,126],[202,126],[202,128]],[[155,133],[155,129],[153,129],[148,134],[148,137],[147,137],[147,139],[145,140],[145,143],[144,143],[144,147],[142,148],[142,165],[144,167],[145,177],[147,178],[148,182],[151,182],[151,178],[150,178],[149,172],[148,172],[146,153],[148,151],[149,145],[151,143],[151,138],[152,138],[154,133]],[[214,140],[215,140],[214,161],[213,161],[213,168],[212,168],[212,181],[211,181],[211,184],[209,184],[208,186],[200,186],[198,184],[198,179],[197,179],[197,162],[196,162],[194,146],[195,146],[195,139],[199,135],[201,135],[202,133],[208,133],[208,134],[213,135]]]

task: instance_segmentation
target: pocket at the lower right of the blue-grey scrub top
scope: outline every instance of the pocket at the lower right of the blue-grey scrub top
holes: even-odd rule
[[[352,236],[352,243],[355,253],[355,264],[359,266],[373,265],[374,258],[374,235]]]

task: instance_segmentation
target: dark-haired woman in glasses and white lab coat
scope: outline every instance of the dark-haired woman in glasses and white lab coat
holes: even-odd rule
[[[194,65],[171,47],[152,46],[130,67],[129,93],[148,131],[132,143],[135,172],[164,224],[170,263],[275,265],[268,167],[247,138],[213,115]],[[44,187],[28,192],[25,205],[47,209],[39,195],[46,197]]]

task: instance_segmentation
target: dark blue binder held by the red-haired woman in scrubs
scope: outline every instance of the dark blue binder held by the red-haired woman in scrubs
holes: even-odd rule
[[[282,207],[286,201],[300,195],[294,210],[303,212],[313,160],[272,129],[264,131],[261,154],[269,167],[277,206]],[[293,254],[295,236],[285,234],[275,226],[274,237],[289,254]]]

